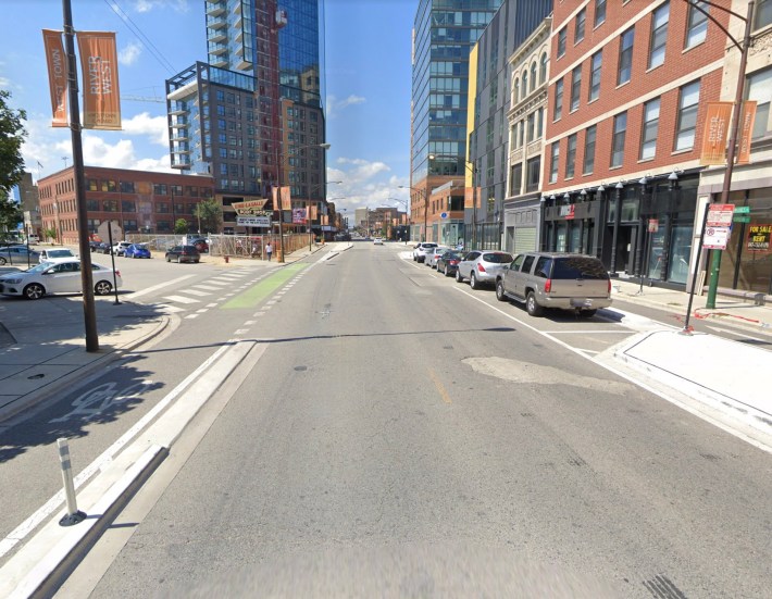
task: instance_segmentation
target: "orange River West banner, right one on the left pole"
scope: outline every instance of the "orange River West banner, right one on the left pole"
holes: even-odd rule
[[[83,126],[86,129],[121,129],[121,92],[117,50],[111,32],[78,32],[83,74]]]

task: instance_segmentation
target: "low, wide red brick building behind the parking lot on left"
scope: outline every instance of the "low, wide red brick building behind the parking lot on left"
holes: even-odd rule
[[[86,166],[88,230],[116,221],[124,233],[171,234],[179,219],[198,228],[196,205],[213,196],[212,177]],[[73,167],[38,182],[43,230],[55,230],[60,244],[78,242]]]

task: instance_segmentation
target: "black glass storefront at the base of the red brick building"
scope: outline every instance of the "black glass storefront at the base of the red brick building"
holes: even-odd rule
[[[612,276],[684,289],[698,183],[697,172],[673,172],[545,197],[541,249],[595,255]]]

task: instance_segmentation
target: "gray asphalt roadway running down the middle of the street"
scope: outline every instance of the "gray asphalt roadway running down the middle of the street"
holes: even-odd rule
[[[528,321],[401,251],[196,321],[260,351],[61,597],[768,596],[769,454],[594,363],[613,319]]]

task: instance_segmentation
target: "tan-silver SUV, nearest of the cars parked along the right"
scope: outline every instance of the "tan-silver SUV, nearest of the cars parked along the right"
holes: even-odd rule
[[[525,302],[532,316],[540,316],[545,308],[560,308],[589,317],[598,308],[611,305],[611,279],[593,255],[526,252],[498,274],[496,297]]]

